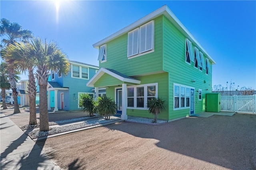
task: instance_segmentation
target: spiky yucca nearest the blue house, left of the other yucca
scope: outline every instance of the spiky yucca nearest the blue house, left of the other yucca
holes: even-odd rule
[[[89,94],[79,94],[79,106],[82,107],[82,110],[89,113],[89,117],[92,117],[94,114],[94,100]]]

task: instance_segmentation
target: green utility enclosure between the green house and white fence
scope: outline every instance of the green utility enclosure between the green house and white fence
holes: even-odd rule
[[[207,112],[220,112],[220,93],[206,94],[206,111]]]

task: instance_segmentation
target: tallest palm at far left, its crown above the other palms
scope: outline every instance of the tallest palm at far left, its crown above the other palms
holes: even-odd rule
[[[32,32],[29,30],[23,30],[22,26],[20,26],[18,23],[11,23],[6,18],[2,18],[0,26],[0,35],[1,35],[1,49],[4,49],[4,47],[7,47],[10,44],[14,44],[17,41],[26,41],[27,39],[31,38]],[[5,38],[6,37],[6,38]],[[2,45],[4,43],[4,45]],[[2,55],[2,50],[1,50]],[[14,97],[14,113],[20,113],[20,109],[18,106],[18,100],[17,100],[17,90],[16,90],[16,78],[15,78],[15,64],[9,64],[8,65],[8,71],[9,71],[9,82],[12,88],[12,96]]]

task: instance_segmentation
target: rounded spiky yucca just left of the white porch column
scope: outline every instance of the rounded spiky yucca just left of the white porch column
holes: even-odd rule
[[[116,102],[107,96],[99,97],[94,104],[94,111],[97,111],[99,115],[105,116],[105,119],[108,120],[111,115],[116,114],[116,108]]]

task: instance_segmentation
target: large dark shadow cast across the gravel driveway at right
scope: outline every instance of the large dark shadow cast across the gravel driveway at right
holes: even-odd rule
[[[136,123],[138,124],[138,123]],[[157,139],[156,146],[213,164],[256,169],[256,115],[190,117],[163,125],[108,125],[140,138]]]

